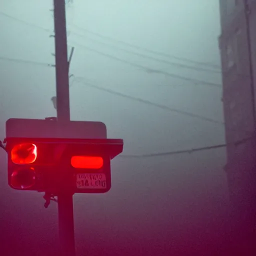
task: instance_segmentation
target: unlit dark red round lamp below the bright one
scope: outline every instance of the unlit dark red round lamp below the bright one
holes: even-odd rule
[[[35,184],[33,168],[17,169],[11,173],[11,186],[16,189],[27,189]]]

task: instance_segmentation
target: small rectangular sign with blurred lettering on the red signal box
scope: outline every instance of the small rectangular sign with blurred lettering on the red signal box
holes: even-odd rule
[[[78,173],[76,174],[76,187],[80,189],[106,188],[106,175],[104,173]]]

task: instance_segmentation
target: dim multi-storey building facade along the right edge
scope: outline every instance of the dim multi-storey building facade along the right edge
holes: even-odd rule
[[[256,0],[219,6],[225,171],[233,205],[247,214],[256,210]]]

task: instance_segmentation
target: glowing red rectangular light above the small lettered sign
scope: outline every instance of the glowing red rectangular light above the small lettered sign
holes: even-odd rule
[[[99,169],[103,166],[103,158],[101,156],[72,156],[71,165],[74,168]]]

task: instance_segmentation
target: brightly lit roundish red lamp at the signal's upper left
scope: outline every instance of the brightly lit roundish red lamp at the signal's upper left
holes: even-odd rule
[[[21,143],[11,149],[11,161],[16,164],[33,163],[37,157],[37,148],[33,143]]]

